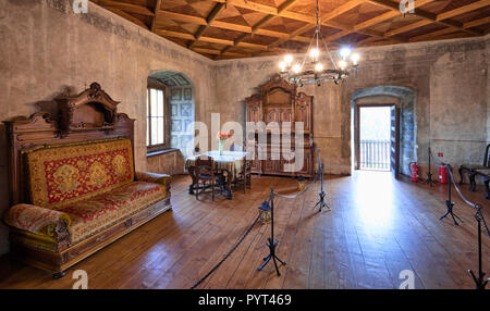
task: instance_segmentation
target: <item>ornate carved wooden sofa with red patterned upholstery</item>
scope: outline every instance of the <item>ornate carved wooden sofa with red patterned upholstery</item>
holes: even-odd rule
[[[11,254],[53,277],[171,209],[170,176],[134,170],[134,120],[97,83],[58,112],[4,122]]]

